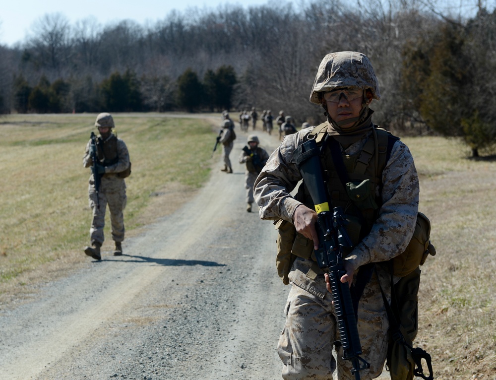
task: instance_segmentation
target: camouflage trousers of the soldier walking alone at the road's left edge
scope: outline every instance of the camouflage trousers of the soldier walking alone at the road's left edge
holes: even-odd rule
[[[98,243],[102,245],[105,240],[103,228],[105,226],[105,212],[107,209],[107,204],[109,205],[110,211],[112,239],[115,242],[122,242],[124,240],[123,210],[127,203],[127,197],[125,193],[124,180],[120,181],[122,181],[123,186],[119,186],[117,189],[115,186],[111,189],[105,189],[104,186],[101,186],[100,191],[98,192],[98,201],[95,188],[91,185],[89,187],[89,204],[93,211],[93,220],[91,221],[90,227],[91,244]]]

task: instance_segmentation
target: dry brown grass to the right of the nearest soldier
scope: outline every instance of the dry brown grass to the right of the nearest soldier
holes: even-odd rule
[[[418,344],[443,380],[496,377],[496,161],[457,140],[405,138],[437,249],[422,267]]]

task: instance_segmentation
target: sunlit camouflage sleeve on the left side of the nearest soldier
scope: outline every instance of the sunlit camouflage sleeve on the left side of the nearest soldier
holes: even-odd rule
[[[261,219],[284,219],[293,223],[293,213],[296,207],[302,204],[290,194],[302,179],[293,155],[303,136],[310,130],[311,128],[307,128],[285,136],[258,175],[253,195],[255,202],[260,206]]]

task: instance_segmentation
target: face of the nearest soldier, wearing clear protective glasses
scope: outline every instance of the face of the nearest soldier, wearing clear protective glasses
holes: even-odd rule
[[[368,94],[366,94],[368,95]],[[363,90],[337,89],[324,93],[327,112],[332,120],[341,122],[347,119],[358,118],[364,101]],[[367,96],[369,100],[369,97]],[[372,95],[371,95],[372,99]],[[342,128],[352,127],[354,122],[342,125]]]

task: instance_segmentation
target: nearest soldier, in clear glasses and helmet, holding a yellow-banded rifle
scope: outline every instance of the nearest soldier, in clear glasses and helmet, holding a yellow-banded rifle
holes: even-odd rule
[[[379,87],[365,55],[326,55],[310,94],[326,122],[286,136],[254,184],[260,218],[278,228],[279,276],[292,285],[277,348],[283,379],[330,380],[337,370],[339,380],[369,380],[386,360],[387,261],[412,237],[419,179],[397,138],[381,161],[373,99]]]

